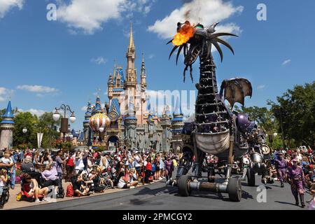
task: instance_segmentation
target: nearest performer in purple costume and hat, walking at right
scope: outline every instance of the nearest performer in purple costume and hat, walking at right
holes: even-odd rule
[[[297,165],[297,159],[293,159],[293,166],[288,171],[288,177],[291,182],[291,192],[295,198],[295,205],[299,205],[299,200],[297,195],[300,195],[301,207],[304,208],[304,188],[305,178],[303,169]]]

